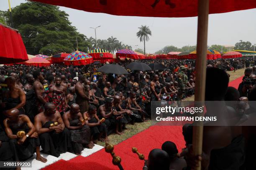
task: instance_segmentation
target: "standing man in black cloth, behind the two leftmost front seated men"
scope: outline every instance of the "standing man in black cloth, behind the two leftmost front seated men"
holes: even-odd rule
[[[24,91],[26,94],[25,111],[31,122],[34,122],[34,117],[37,114],[36,94],[33,88],[35,79],[32,74],[26,74],[26,80],[27,82],[24,85]]]

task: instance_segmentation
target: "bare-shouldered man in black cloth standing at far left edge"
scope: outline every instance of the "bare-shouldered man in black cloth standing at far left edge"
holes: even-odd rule
[[[20,114],[24,114],[24,106],[26,104],[25,92],[15,84],[14,77],[7,77],[5,79],[5,84],[7,84],[9,90],[3,93],[3,103],[2,107],[4,110],[9,110],[16,108],[20,111]]]

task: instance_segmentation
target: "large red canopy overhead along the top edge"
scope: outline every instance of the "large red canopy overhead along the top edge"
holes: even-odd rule
[[[144,17],[195,17],[197,0],[33,0],[93,13]],[[210,0],[209,13],[256,7],[255,0]]]

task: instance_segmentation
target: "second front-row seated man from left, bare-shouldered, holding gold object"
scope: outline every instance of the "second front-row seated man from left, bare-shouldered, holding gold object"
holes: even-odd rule
[[[58,125],[53,126],[55,123]],[[46,103],[44,112],[36,115],[35,127],[44,153],[59,157],[71,148],[69,130],[53,103]]]

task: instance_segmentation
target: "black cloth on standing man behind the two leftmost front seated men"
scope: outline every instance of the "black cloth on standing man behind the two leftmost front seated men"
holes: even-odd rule
[[[26,105],[24,108],[26,115],[29,117],[31,122],[34,122],[34,117],[37,114],[36,95],[34,90],[28,90],[26,92]]]

